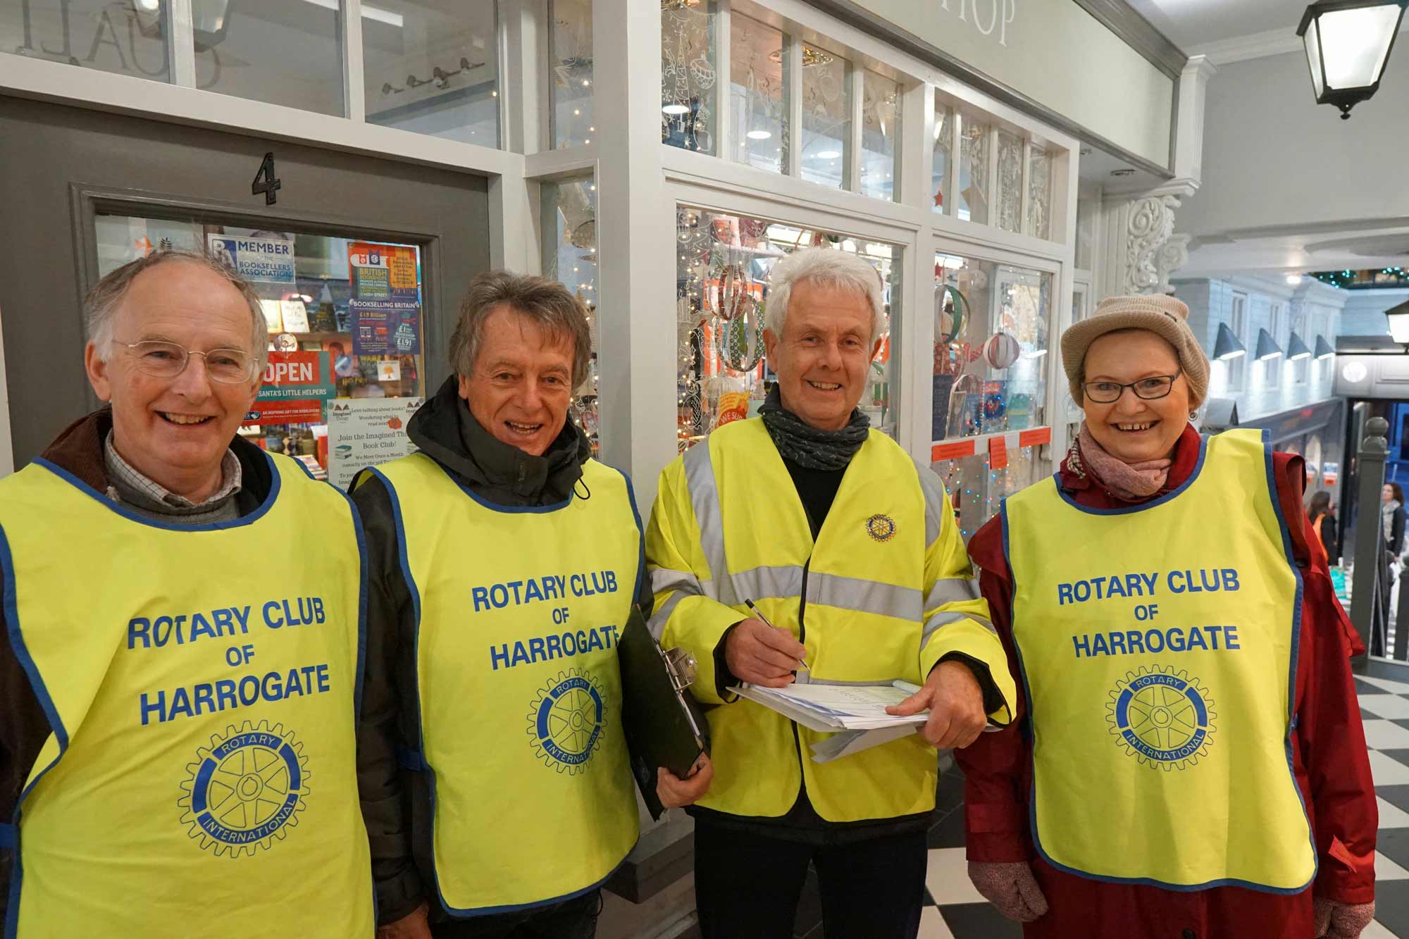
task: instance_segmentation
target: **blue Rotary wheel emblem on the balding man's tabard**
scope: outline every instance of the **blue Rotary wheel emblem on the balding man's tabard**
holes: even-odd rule
[[[299,823],[309,794],[309,757],[283,725],[248,720],[210,739],[186,766],[182,823],[200,846],[240,857],[271,847]]]

